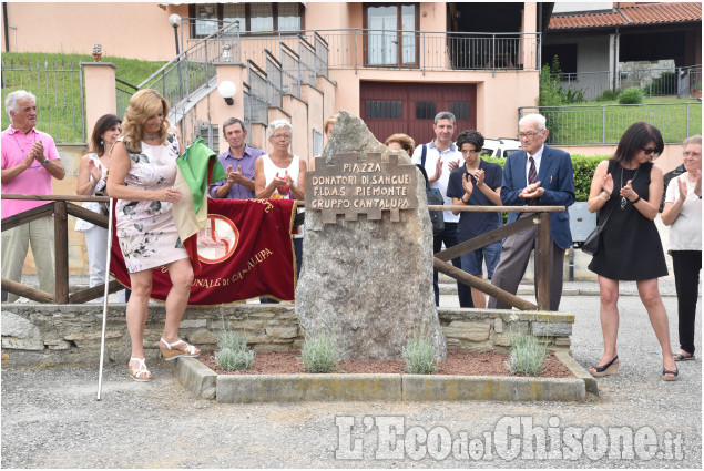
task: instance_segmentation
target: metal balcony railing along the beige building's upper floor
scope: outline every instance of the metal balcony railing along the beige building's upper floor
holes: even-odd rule
[[[233,23],[229,23],[233,24]],[[410,69],[421,71],[516,71],[540,69],[540,33],[463,33],[369,29],[304,30],[295,33],[239,33],[225,25],[221,41],[231,42],[233,61],[265,63],[265,50],[285,44],[315,63],[312,75],[328,69]],[[304,42],[300,42],[300,39]],[[186,40],[186,47],[200,39]],[[306,57],[309,55],[309,57]],[[276,58],[283,62],[280,57]]]

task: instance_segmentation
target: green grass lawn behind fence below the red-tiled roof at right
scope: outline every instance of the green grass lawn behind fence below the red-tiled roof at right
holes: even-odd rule
[[[702,102],[674,96],[646,99],[643,105],[590,102],[545,107],[550,144],[616,144],[636,121],[655,125],[665,142],[682,142],[702,133]]]

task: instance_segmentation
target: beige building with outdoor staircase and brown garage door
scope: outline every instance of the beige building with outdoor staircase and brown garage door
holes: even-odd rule
[[[246,116],[253,123],[252,141],[265,147],[257,123],[287,117],[297,136],[295,151],[309,158],[322,149],[324,121],[340,109],[363,117],[381,141],[405,132],[418,143],[428,142],[432,117],[445,110],[455,112],[459,129],[513,136],[518,107],[534,105],[538,96],[541,29],[547,24],[539,2],[10,1],[3,3],[2,47],[90,53],[100,43],[106,55],[170,61],[175,41],[169,17],[174,13],[182,17],[175,30],[180,50],[192,51],[191,63],[211,62],[218,69],[217,83],[228,80],[237,90],[231,106],[217,95],[217,83],[206,84],[207,90],[191,86],[187,99],[196,95],[200,104],[182,107],[186,136],[207,136],[229,115],[247,113],[253,114]],[[206,57],[198,48],[204,49],[208,34]],[[247,86],[256,103],[265,93],[255,89],[268,90],[264,113],[245,110],[242,93]],[[184,98],[181,93],[170,100],[177,105]],[[91,117],[112,105],[112,99],[108,102],[89,109],[89,130]],[[212,141],[216,145],[218,140]]]

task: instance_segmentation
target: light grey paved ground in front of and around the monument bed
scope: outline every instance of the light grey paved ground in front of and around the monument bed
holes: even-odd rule
[[[595,284],[583,289],[595,291]],[[676,339],[676,298],[664,301]],[[588,368],[601,356],[599,297],[567,296],[562,307],[577,315],[573,355]],[[620,310],[621,369],[600,379],[601,397],[584,403],[221,405],[194,399],[155,361],[151,383],[131,381],[124,365],[108,366],[96,401],[96,365],[3,368],[1,465],[701,469],[701,360],[681,364],[679,381],[662,381],[639,298],[623,296]],[[399,433],[389,436],[394,422]],[[625,434],[623,447],[615,432]],[[531,437],[545,457],[522,443]]]

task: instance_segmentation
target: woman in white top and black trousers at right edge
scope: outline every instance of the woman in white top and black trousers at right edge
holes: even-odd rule
[[[684,141],[684,170],[672,178],[662,219],[670,228],[670,254],[675,273],[680,351],[675,361],[694,359],[694,318],[702,269],[702,136]]]

